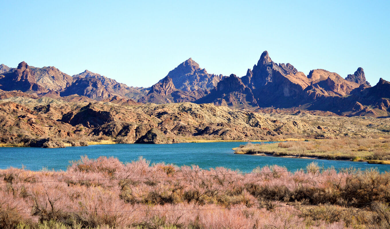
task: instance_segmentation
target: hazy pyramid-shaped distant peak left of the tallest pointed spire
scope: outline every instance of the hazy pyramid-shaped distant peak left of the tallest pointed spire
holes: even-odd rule
[[[222,75],[207,73],[206,69],[191,58],[179,64],[175,69],[168,72],[175,87],[184,92],[205,91],[213,89],[223,78]],[[161,79],[160,82],[164,81]]]

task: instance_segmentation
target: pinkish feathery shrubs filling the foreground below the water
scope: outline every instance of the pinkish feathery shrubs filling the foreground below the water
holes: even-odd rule
[[[0,228],[389,228],[390,173],[122,164],[0,170]]]

